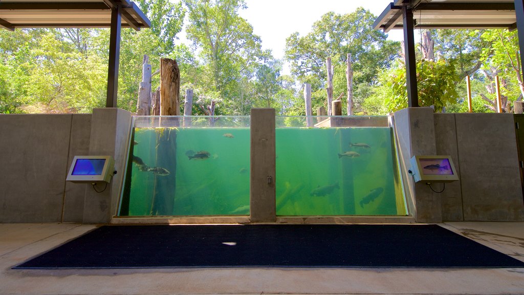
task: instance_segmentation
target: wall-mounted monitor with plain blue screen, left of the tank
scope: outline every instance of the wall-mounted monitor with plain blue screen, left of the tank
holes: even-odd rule
[[[65,180],[74,183],[109,183],[115,171],[112,156],[74,156]]]

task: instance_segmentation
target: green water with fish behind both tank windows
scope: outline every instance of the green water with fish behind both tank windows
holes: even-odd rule
[[[120,216],[249,214],[249,128],[134,128],[132,141]],[[407,214],[390,128],[277,128],[276,154],[277,215]]]

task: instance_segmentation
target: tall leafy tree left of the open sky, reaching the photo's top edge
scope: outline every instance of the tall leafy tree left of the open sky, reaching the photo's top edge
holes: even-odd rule
[[[246,7],[243,0],[183,0],[188,7],[188,38],[201,49],[200,57],[210,73],[209,84],[220,93],[228,113],[243,109],[242,77],[253,75],[254,66],[270,57],[261,50],[260,37],[238,15]]]

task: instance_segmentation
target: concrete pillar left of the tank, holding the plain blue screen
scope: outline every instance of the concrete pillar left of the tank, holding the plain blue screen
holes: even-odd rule
[[[116,214],[118,194],[124,175],[130,122],[131,113],[126,110],[117,108],[93,110],[89,155],[113,156],[117,174],[101,193],[95,192],[91,185],[86,185],[84,223],[109,223],[112,216]],[[103,188],[101,185],[97,186],[99,191]]]

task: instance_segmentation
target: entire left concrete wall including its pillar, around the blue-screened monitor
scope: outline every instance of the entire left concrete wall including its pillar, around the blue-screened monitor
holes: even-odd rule
[[[130,115],[112,108],[93,114],[0,115],[0,223],[110,222]],[[113,155],[119,173],[103,193],[66,182],[75,155]]]

